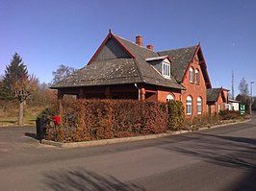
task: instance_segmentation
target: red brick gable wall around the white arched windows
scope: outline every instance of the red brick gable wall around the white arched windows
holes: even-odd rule
[[[208,107],[206,104],[206,84],[204,81],[204,77],[202,74],[201,67],[199,65],[198,60],[193,60],[191,63],[191,67],[193,68],[193,83],[190,82],[190,68],[185,75],[184,82],[182,85],[186,87],[186,90],[182,92],[181,101],[184,104],[185,107],[185,114],[188,117],[196,116],[197,115],[197,98],[201,97],[202,99],[202,114],[206,114],[208,112]],[[199,71],[199,84],[195,84],[195,70]],[[192,97],[192,115],[187,115],[187,106],[186,101],[187,97]]]

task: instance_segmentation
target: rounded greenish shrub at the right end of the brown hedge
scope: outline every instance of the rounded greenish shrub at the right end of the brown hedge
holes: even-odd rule
[[[167,108],[167,129],[171,131],[182,129],[185,122],[185,111],[182,102],[171,100],[167,102]]]

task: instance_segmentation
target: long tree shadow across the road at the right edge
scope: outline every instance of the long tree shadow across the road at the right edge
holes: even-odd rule
[[[198,140],[191,141],[191,136],[184,135],[183,140],[187,137],[187,141],[160,147],[216,165],[240,169],[246,172],[245,176],[240,182],[234,182],[231,190],[256,190],[256,139],[207,133],[194,133],[192,136]]]

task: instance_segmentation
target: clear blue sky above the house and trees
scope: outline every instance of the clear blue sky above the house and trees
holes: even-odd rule
[[[86,65],[109,29],[156,51],[200,42],[213,86],[231,89],[232,70],[235,94],[243,77],[256,83],[254,0],[0,0],[0,75],[17,52],[49,83],[62,63]]]

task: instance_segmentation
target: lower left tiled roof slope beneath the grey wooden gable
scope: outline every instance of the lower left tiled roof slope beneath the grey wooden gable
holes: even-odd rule
[[[141,82],[133,59],[93,61],[52,88]]]

